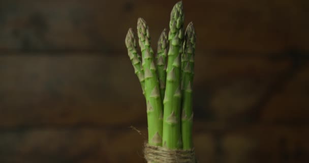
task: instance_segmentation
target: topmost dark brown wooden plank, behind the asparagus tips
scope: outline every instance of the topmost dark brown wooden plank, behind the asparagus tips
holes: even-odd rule
[[[153,47],[168,28],[176,1],[39,1],[0,2],[1,50],[95,50],[126,52],[124,38],[138,17],[150,26]],[[197,50],[276,53],[308,50],[308,2],[183,2],[186,23],[195,23]],[[160,11],[160,12],[159,12]]]

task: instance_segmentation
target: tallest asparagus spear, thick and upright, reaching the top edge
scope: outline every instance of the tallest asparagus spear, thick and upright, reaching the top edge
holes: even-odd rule
[[[180,132],[180,58],[183,45],[182,2],[178,2],[171,12],[169,51],[164,103],[163,146],[169,149],[182,148]]]

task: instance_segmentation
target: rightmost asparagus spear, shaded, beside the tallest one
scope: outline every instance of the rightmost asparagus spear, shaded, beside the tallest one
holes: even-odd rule
[[[192,126],[193,126],[193,96],[192,84],[194,76],[194,51],[195,51],[195,30],[190,22],[183,43],[184,53],[181,58],[181,91],[182,91],[182,113],[181,113],[181,137],[182,149],[192,149]]]

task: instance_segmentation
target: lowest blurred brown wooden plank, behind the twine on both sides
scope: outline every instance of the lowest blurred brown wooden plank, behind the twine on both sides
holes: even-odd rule
[[[0,132],[1,162],[145,162],[146,128],[63,128]],[[200,162],[307,162],[307,127],[254,125],[194,132]]]

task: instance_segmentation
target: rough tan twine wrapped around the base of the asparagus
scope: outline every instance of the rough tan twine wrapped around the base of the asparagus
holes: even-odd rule
[[[145,159],[156,163],[195,163],[194,149],[167,149],[164,147],[145,144]]]

